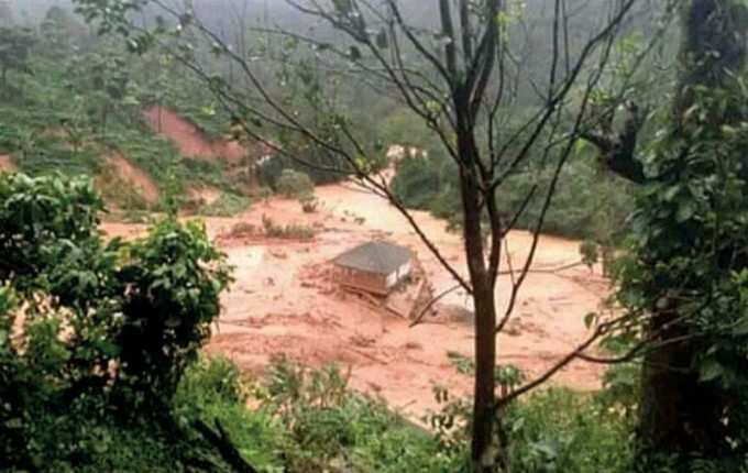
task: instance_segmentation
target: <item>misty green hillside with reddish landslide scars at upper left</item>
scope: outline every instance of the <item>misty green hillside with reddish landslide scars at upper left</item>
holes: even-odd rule
[[[24,2],[40,13],[51,2]],[[200,210],[199,190],[224,202],[246,200],[242,162],[201,160],[179,152],[146,111],[176,111],[206,143],[228,142],[230,120],[209,94],[163,54],[138,56],[99,37],[70,11],[52,7],[32,26],[12,6],[0,30],[0,155],[30,175],[59,172],[96,178],[110,206],[157,210],[165,191],[183,208]],[[38,14],[35,14],[38,16]],[[246,156],[255,148],[244,143]],[[234,206],[237,207],[237,206]],[[210,211],[210,209],[208,209]]]

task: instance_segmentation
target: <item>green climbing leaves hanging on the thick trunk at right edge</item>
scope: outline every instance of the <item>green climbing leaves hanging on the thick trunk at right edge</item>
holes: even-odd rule
[[[733,399],[722,413],[724,437],[710,439],[724,462],[748,452],[748,124],[738,119],[748,109],[736,99],[746,90],[741,79],[730,90],[697,87],[682,120],[663,127],[648,156],[658,178],[637,200],[617,272],[617,301],[646,323],[652,315],[678,315],[673,326],[691,340],[686,375]],[[635,343],[641,328],[629,324],[608,342]],[[691,457],[675,459],[679,469],[694,464]]]

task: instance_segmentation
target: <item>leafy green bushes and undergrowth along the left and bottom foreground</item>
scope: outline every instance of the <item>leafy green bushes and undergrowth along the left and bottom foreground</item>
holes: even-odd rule
[[[468,471],[471,405],[446,391],[431,435],[334,366],[278,359],[250,389],[232,363],[198,360],[224,256],[174,218],[105,242],[101,209],[89,180],[0,177],[0,470]],[[512,471],[626,471],[628,424],[600,406],[569,392],[512,404]]]

